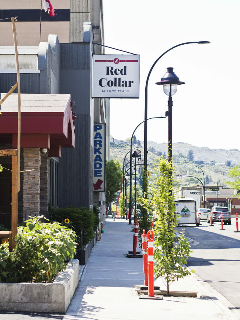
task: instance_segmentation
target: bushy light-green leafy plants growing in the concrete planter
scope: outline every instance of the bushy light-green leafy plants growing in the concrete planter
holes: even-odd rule
[[[76,233],[43,218],[32,217],[18,228],[12,252],[0,245],[0,282],[51,282],[66,269],[76,253]]]

